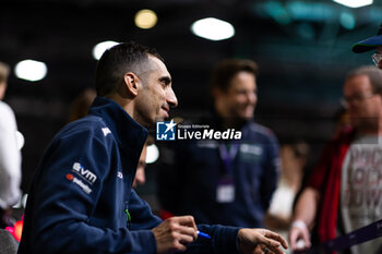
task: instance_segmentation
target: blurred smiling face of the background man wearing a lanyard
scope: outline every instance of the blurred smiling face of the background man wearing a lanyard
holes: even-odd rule
[[[258,101],[256,81],[250,72],[239,72],[230,81],[227,92],[219,93],[228,118],[251,119]]]

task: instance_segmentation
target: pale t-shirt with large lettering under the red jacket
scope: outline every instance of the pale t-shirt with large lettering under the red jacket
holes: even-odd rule
[[[382,136],[356,138],[342,169],[341,213],[349,233],[382,219]],[[351,247],[353,254],[378,254],[382,238]]]

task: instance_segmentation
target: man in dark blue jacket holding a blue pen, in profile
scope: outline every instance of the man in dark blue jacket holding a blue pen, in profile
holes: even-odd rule
[[[97,65],[88,116],[64,126],[36,171],[19,253],[282,253],[264,229],[162,221],[132,190],[147,130],[177,106],[171,77],[153,49],[129,43]],[[211,235],[198,239],[198,230]]]

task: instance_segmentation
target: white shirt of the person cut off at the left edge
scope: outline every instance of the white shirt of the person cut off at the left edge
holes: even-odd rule
[[[21,196],[21,152],[17,125],[12,109],[0,100],[0,208],[5,209]]]

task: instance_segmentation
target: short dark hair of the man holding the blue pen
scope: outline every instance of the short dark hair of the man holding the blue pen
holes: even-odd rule
[[[148,56],[164,59],[154,48],[134,41],[116,45],[104,52],[96,70],[96,89],[98,96],[105,96],[119,88],[127,72],[135,74],[147,64]]]

